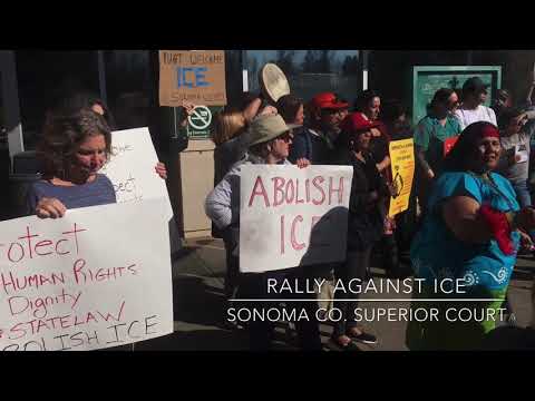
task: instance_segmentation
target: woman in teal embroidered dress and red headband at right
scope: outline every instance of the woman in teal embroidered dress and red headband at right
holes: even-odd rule
[[[411,350],[478,349],[499,320],[521,241],[535,226],[534,209],[521,211],[509,182],[493,173],[499,153],[498,129],[480,121],[463,131],[444,162],[410,252],[415,277],[424,278],[411,307],[438,314],[409,322]],[[435,283],[453,281],[463,286],[435,291]]]

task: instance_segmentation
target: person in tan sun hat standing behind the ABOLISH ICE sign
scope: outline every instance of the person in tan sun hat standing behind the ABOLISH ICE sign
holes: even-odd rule
[[[206,215],[214,222],[217,228],[223,229],[225,238],[225,247],[231,253],[228,260],[230,274],[236,282],[240,282],[239,297],[244,299],[266,299],[273,296],[266,294],[269,278],[282,281],[283,277],[292,277],[289,280],[302,280],[302,268],[273,271],[254,274],[240,274],[240,172],[247,164],[265,164],[291,165],[286,160],[292,144],[292,128],[295,126],[286,125],[284,119],[279,115],[265,115],[256,117],[245,135],[247,143],[247,151],[244,158],[234,165],[231,170],[223,177],[221,183],[208,194],[205,200]],[[247,304],[249,307],[269,307],[273,303],[265,304]],[[230,305],[233,306],[233,305]],[[301,348],[305,350],[321,350],[321,340],[319,333],[318,321],[314,319],[317,304],[314,302],[305,302],[298,307],[308,310],[307,314],[312,316],[310,321],[296,323],[301,339]],[[273,322],[253,321],[247,323],[251,349],[257,351],[269,350],[271,346],[271,336],[273,333]]]

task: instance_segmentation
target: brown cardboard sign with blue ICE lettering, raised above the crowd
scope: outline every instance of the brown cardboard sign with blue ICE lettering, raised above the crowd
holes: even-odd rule
[[[159,105],[226,105],[225,51],[159,51]]]

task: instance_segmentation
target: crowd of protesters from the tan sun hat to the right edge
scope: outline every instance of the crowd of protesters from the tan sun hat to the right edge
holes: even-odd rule
[[[246,97],[249,102],[256,100],[265,106],[261,94],[254,100],[251,94]],[[487,97],[488,86],[478,77],[467,79],[461,89],[440,88],[428,105],[427,115],[415,127],[401,101],[382,100],[370,89],[357,96],[353,107],[334,92],[321,92],[310,100],[285,95],[269,110],[260,107],[247,117],[243,107],[221,111],[217,121],[231,118],[236,110],[241,113],[235,134],[228,136],[231,144],[240,143],[240,151],[226,151],[234,163],[232,167],[227,164],[221,169],[216,164],[215,187],[205,203],[206,214],[225,238],[227,299],[265,299],[264,284],[273,276],[366,281],[370,278],[370,258],[378,254],[388,277],[461,278],[469,288],[464,297],[494,300],[479,303],[478,307],[497,310],[506,305],[516,256],[534,248],[535,212],[531,208],[529,185],[534,168],[529,162],[535,111],[531,104],[513,105],[510,94],[504,89],[497,92],[493,108],[484,106]],[[221,125],[216,126],[216,149],[223,149],[218,138],[225,131]],[[389,144],[407,138],[414,138],[415,144],[414,188],[408,211],[390,217],[388,205],[396,184]],[[216,159],[221,157],[217,155]],[[240,169],[247,163],[295,164],[300,168],[352,167],[343,263],[239,273]],[[407,270],[402,268],[407,266],[401,264],[400,254],[409,248]],[[451,299],[426,304],[427,307],[438,304],[444,311],[459,301],[455,294],[432,290],[424,286],[414,294],[415,305],[422,306],[421,301],[427,299]],[[343,317],[333,322],[331,333],[330,342],[338,349],[356,350],[356,342],[378,341],[356,322],[358,297],[354,293],[333,294],[333,306]],[[273,299],[270,305],[275,303]],[[468,300],[456,306],[475,304]],[[286,306],[296,307],[291,303]],[[310,311],[318,304],[311,300],[304,307]],[[312,311],[310,315],[315,314]],[[321,349],[318,325],[318,321],[298,325],[302,349]],[[488,320],[471,324],[451,324],[445,320],[410,322],[407,346],[478,349],[494,329],[495,322]],[[272,323],[251,323],[249,332],[253,350],[270,349]]]

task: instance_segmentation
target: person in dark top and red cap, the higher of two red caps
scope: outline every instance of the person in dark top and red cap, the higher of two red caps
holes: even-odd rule
[[[329,164],[348,107],[333,92],[315,95],[309,104],[310,124],[295,133],[289,160],[304,158],[311,164]]]

